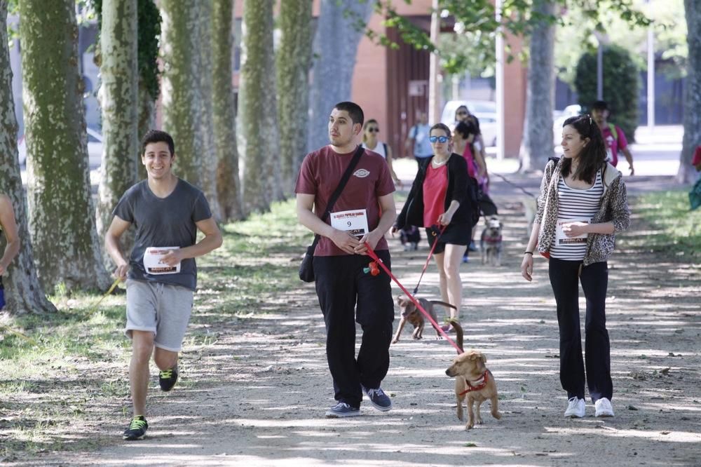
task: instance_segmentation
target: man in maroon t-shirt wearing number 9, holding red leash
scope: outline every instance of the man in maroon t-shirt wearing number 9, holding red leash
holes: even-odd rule
[[[382,412],[392,401],[380,388],[389,368],[394,303],[390,278],[363,269],[372,261],[367,242],[386,266],[390,254],[384,236],[397,217],[392,177],[386,161],[365,151],[353,169],[331,214],[320,217],[351,163],[363,123],[362,109],[353,102],[336,104],[329,116],[331,144],[307,154],[297,185],[297,218],[320,236],[313,266],[316,293],[326,324],[326,355],[338,403],[326,417],[360,415],[362,393]],[[362,343],[355,357],[355,322]]]

